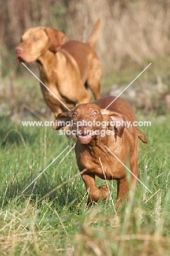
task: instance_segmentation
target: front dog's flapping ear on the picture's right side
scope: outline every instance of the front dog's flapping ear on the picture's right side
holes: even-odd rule
[[[123,115],[108,109],[102,109],[101,114],[108,115],[108,117],[110,117],[111,126],[114,126],[114,130],[116,130],[117,135],[121,138],[125,128],[125,118]]]

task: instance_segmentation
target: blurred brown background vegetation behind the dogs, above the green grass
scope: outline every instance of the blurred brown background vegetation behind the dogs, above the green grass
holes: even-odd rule
[[[118,95],[150,62],[125,97],[145,114],[170,110],[169,0],[0,0],[0,115],[49,113],[39,82],[15,60],[26,28],[51,26],[86,42],[101,18],[95,45],[102,65],[102,96]],[[39,75],[37,65],[27,64]]]

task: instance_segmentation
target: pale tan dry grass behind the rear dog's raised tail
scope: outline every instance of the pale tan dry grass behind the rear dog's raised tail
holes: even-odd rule
[[[170,52],[169,1],[69,1],[67,13],[68,37],[80,40],[87,40],[101,18],[96,50],[104,72],[144,65]]]

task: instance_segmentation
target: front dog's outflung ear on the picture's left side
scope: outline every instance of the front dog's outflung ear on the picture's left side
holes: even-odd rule
[[[59,130],[60,128],[69,125],[69,121],[72,117],[73,111],[70,110],[69,112],[62,112],[57,115],[56,120],[53,121],[52,129]]]

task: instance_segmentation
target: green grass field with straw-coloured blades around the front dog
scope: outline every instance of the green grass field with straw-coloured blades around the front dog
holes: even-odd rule
[[[139,143],[138,164],[139,179],[152,193],[138,183],[135,201],[127,198],[116,212],[115,181],[108,182],[107,201],[85,207],[74,150],[66,155],[74,142],[51,127],[1,118],[1,255],[169,255],[169,117],[151,121],[141,127],[148,145]]]

